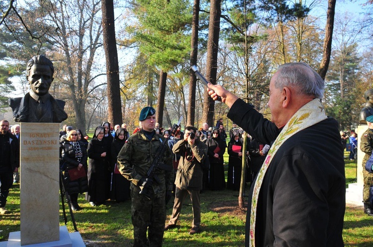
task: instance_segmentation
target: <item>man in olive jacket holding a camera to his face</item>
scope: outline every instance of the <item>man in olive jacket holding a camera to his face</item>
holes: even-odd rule
[[[176,191],[175,202],[172,210],[172,215],[169,224],[165,226],[165,230],[176,227],[180,212],[182,210],[183,201],[187,194],[193,208],[192,229],[189,234],[199,232],[201,224],[201,207],[199,200],[199,190],[202,189],[203,164],[207,158],[207,146],[203,142],[195,138],[196,128],[187,126],[185,128],[184,139],[178,141],[172,151],[174,154],[181,156],[178,171],[176,174]]]

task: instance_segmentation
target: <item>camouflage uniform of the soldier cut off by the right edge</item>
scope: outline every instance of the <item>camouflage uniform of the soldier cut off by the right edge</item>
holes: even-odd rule
[[[360,149],[365,153],[362,163],[364,177],[363,199],[365,203],[369,203],[369,188],[373,185],[373,174],[365,170],[365,164],[367,163],[373,150],[373,129],[368,128],[368,130],[362,135]]]

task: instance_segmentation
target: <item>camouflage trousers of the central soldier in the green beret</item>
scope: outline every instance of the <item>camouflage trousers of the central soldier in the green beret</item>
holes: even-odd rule
[[[131,184],[133,247],[161,247],[166,221],[166,192],[152,193],[150,200],[139,192],[140,187]]]

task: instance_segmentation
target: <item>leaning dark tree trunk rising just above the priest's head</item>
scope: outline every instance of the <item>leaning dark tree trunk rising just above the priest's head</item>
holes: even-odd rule
[[[330,55],[332,53],[332,38],[334,28],[336,0],[328,0],[328,11],[326,13],[325,39],[322,60],[319,67],[319,75],[325,80],[326,72],[328,71]]]

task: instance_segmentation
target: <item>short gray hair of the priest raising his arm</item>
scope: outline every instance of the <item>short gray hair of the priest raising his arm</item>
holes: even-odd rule
[[[276,72],[275,87],[291,87],[299,94],[322,99],[325,82],[307,63],[289,62],[280,65]]]

